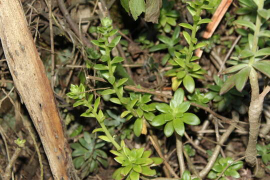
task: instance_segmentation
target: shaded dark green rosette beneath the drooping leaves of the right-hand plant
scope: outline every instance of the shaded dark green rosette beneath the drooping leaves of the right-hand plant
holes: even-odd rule
[[[247,94],[246,91],[239,92],[235,88],[230,89],[226,93],[219,95],[220,88],[224,84],[224,81],[217,75],[214,75],[215,85],[208,84],[208,92],[205,93],[205,97],[212,100],[213,109],[217,109],[219,112],[224,110],[230,111],[231,108],[237,110],[240,114],[244,114],[247,111],[246,105],[243,103],[243,96]],[[225,77],[223,77],[225,79]]]

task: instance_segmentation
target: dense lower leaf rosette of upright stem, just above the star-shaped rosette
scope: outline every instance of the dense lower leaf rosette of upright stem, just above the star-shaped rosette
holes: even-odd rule
[[[186,47],[181,50],[181,52],[185,51]],[[169,63],[174,67],[168,70],[164,75],[165,76],[173,76],[172,78],[172,90],[176,90],[179,85],[183,82],[184,88],[192,93],[195,88],[195,81],[193,78],[204,79],[203,74],[205,74],[205,70],[201,68],[201,66],[192,62],[198,59],[197,56],[192,56],[190,59],[191,62],[187,62],[185,55],[181,52],[174,52],[175,56],[173,59],[169,60]]]

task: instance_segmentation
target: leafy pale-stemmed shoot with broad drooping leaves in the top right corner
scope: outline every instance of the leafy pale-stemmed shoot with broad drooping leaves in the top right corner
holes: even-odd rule
[[[249,6],[247,4],[249,1],[255,4],[255,6],[258,6],[258,1],[241,0],[241,3]],[[263,26],[263,23],[270,18],[270,12],[263,8],[263,4],[258,6],[256,12],[257,18],[259,19],[256,20],[256,25],[252,21],[245,19],[238,19],[234,21],[234,23],[237,25],[248,27],[249,30],[251,32],[253,31],[254,33],[249,33],[250,31],[248,32],[242,30],[242,32],[247,33],[248,45],[246,48],[240,51],[238,56],[231,57],[233,60],[230,60],[229,63],[232,64],[232,66],[222,71],[223,74],[232,75],[223,84],[222,88],[220,89],[220,94],[227,92],[234,85],[238,91],[242,91],[249,75],[256,75],[256,70],[265,74],[267,77],[270,77],[270,61],[263,60],[265,55],[270,54],[270,47],[257,49],[259,37],[270,36],[270,31],[265,30],[267,26]]]

